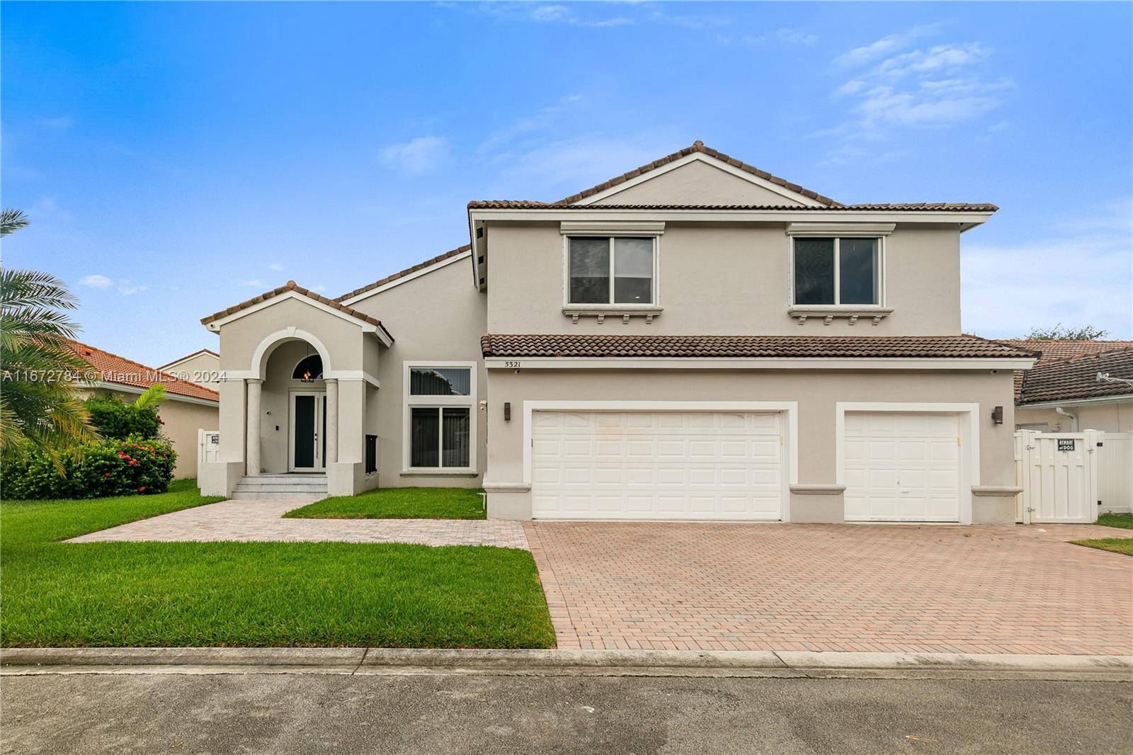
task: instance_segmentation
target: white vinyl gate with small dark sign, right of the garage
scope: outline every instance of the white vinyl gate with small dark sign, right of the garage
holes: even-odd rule
[[[1023,524],[1098,520],[1098,443],[1102,433],[1015,432],[1015,478]]]

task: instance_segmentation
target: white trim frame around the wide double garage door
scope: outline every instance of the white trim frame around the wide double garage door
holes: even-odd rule
[[[531,484],[531,447],[536,412],[778,412],[784,415],[783,521],[791,520],[790,486],[799,482],[798,401],[523,401],[523,484]]]

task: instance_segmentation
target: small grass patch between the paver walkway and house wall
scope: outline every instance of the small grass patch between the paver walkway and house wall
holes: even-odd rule
[[[360,495],[324,498],[284,516],[310,519],[484,519],[479,490],[380,487]]]

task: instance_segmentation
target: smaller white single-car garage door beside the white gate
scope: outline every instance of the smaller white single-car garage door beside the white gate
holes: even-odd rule
[[[960,521],[960,415],[847,412],[845,518]]]

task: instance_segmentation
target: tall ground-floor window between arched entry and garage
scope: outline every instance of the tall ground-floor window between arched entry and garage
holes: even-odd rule
[[[406,464],[409,469],[472,466],[472,367],[408,367]]]

